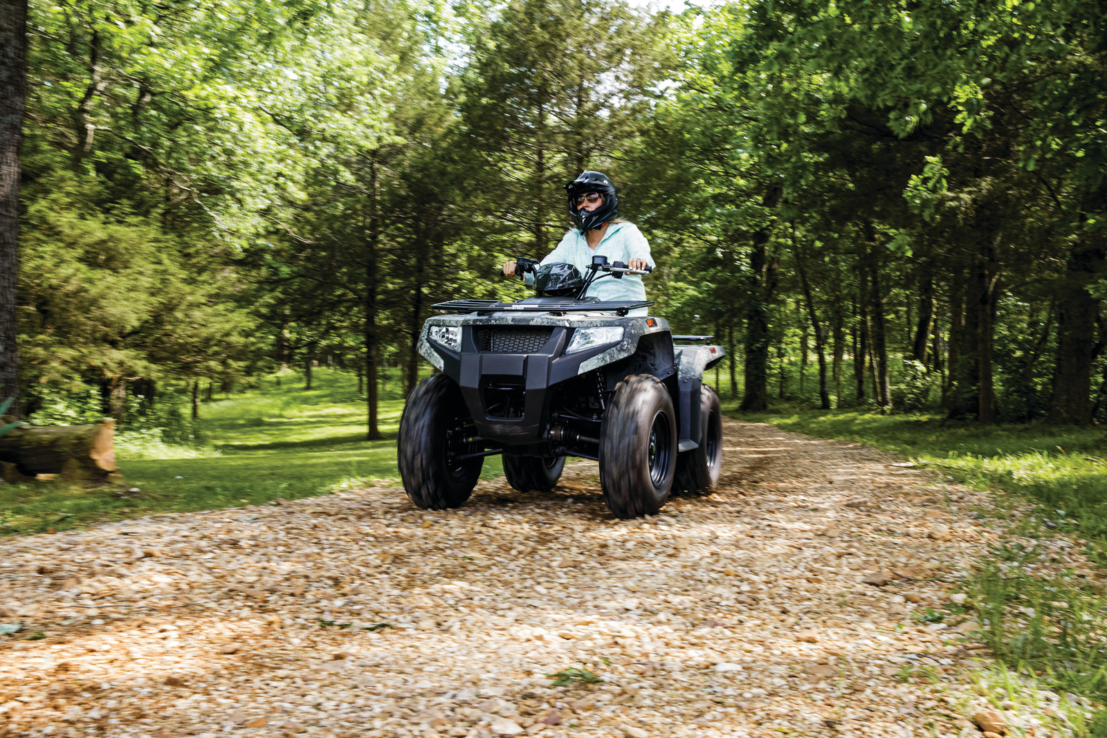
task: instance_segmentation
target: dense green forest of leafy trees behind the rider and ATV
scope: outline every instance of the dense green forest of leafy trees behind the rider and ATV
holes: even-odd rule
[[[321,365],[379,438],[432,305],[521,297],[498,266],[549,252],[586,168],[742,409],[1107,414],[1103,2],[32,0],[2,27],[23,416],[125,428]]]

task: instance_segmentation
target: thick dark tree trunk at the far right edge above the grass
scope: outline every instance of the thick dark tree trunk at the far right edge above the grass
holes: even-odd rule
[[[1092,364],[1099,301],[1088,285],[1103,272],[1107,249],[1099,240],[1077,242],[1068,252],[1057,294],[1057,364],[1049,422],[1092,423]]]

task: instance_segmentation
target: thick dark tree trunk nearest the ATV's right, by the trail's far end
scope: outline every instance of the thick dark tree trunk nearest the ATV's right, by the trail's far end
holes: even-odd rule
[[[763,208],[773,208],[780,200],[780,188],[769,187],[762,198]],[[738,409],[761,412],[768,409],[768,302],[776,287],[776,266],[769,258],[768,240],[772,224],[758,228],[753,235],[749,251],[749,278],[746,282],[746,336],[743,345],[745,392]]]

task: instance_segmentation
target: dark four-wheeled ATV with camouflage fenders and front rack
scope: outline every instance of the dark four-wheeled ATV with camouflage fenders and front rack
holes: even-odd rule
[[[663,318],[644,314],[653,302],[584,297],[597,279],[650,269],[597,256],[582,278],[569,264],[516,262],[520,279],[536,276],[538,297],[442,302],[434,308],[452,314],[423,325],[418,352],[438,372],[415,387],[400,420],[412,502],[461,507],[494,454],[521,492],[554,489],[567,456],[598,461],[618,518],[656,514],[674,489],[712,488],[723,426],[703,372],[723,358],[722,346],[674,336]],[[579,289],[551,295],[541,282],[550,268],[576,273]]]

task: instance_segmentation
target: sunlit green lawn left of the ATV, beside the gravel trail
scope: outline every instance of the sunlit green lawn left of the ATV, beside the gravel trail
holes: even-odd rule
[[[314,387],[290,372],[256,389],[205,403],[200,415],[210,448],[141,446],[128,458],[121,487],[82,489],[61,482],[0,486],[0,534],[64,530],[152,512],[258,505],[277,498],[322,495],[342,487],[395,482],[396,428],[402,399],[380,404],[383,440],[366,441],[365,403],[358,381],[317,370]],[[149,458],[151,455],[163,458]],[[485,460],[485,478],[500,475],[498,457]],[[131,491],[137,490],[137,491]],[[397,495],[403,492],[397,490]]]

